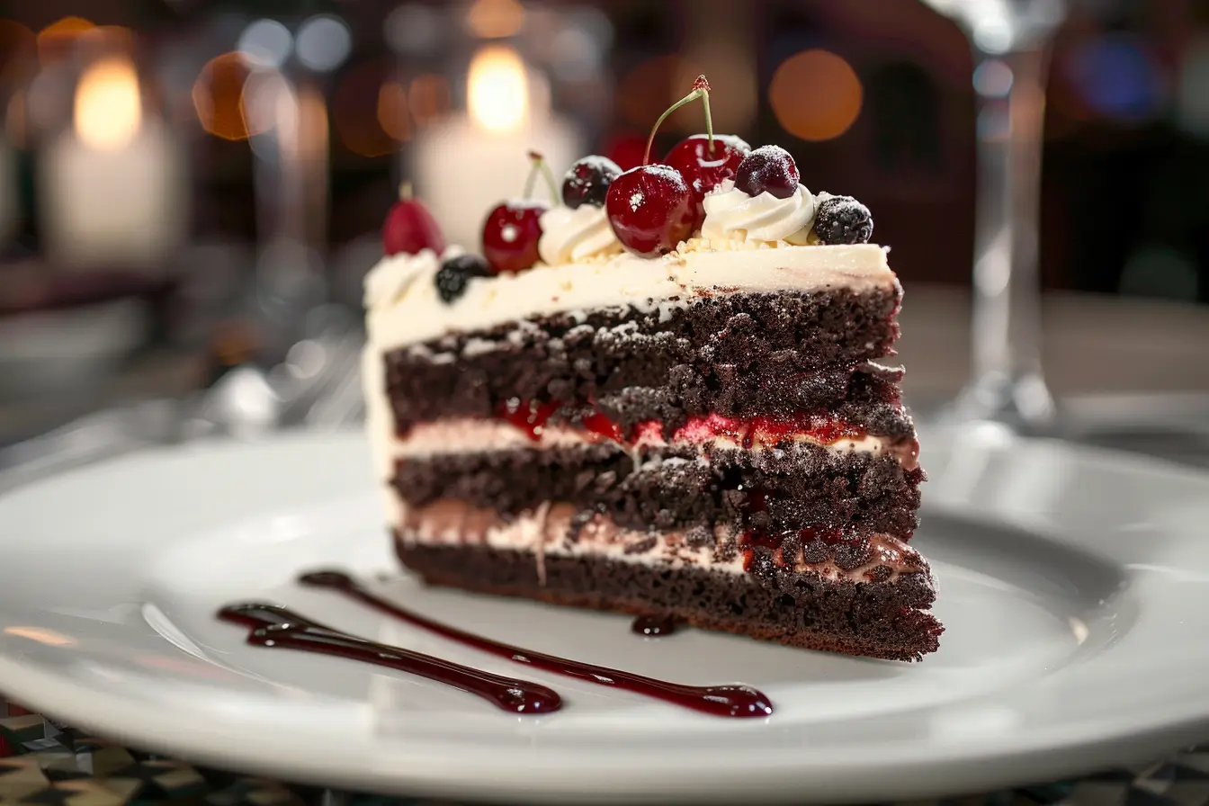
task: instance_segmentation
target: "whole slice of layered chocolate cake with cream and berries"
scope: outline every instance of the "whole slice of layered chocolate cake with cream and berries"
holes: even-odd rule
[[[438,585],[918,660],[942,627],[907,545],[924,472],[880,363],[902,298],[886,249],[783,151],[719,138],[729,175],[698,181],[710,137],[677,146],[687,167],[577,163],[557,205],[488,216],[487,259],[372,269],[369,434],[399,559]],[[644,205],[664,231],[627,220]]]

